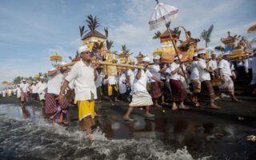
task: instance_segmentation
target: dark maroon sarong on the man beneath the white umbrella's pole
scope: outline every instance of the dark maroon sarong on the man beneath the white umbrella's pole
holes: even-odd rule
[[[170,79],[170,89],[174,102],[182,102],[186,99],[186,90],[182,88],[182,82]]]

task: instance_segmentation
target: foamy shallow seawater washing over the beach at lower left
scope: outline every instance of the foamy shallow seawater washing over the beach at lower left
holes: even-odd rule
[[[33,106],[0,105],[1,159],[193,159],[186,146],[174,150],[155,138],[106,138],[99,127],[94,141],[78,126],[53,125]],[[112,129],[118,129],[117,122]],[[202,159],[207,159],[205,157]]]

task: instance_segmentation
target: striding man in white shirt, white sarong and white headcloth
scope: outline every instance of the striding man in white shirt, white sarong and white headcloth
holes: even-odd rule
[[[135,79],[132,93],[132,102],[130,102],[128,110],[126,114],[123,116],[126,121],[134,121],[133,118],[130,118],[131,112],[134,110],[135,106],[146,106],[145,114],[146,118],[154,118],[154,114],[150,114],[150,106],[153,105],[152,98],[150,94],[146,90],[146,81],[147,78],[153,78],[155,81],[162,83],[158,78],[154,77],[153,74],[150,73],[150,70],[147,67],[150,64],[150,58],[144,57],[142,59],[142,64],[145,69],[136,69],[134,70]]]

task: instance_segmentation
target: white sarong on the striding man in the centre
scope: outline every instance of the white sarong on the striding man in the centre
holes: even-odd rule
[[[138,91],[132,94],[132,102],[129,106],[151,106],[153,105],[150,94],[146,91]]]

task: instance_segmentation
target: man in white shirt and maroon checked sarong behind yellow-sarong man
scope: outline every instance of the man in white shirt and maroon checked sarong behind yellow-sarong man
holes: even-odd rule
[[[64,119],[69,107],[66,98],[56,100],[63,80],[64,70],[62,70],[62,67],[57,66],[48,71],[45,113],[50,115],[50,119],[53,122],[58,122],[59,124],[66,124]]]

